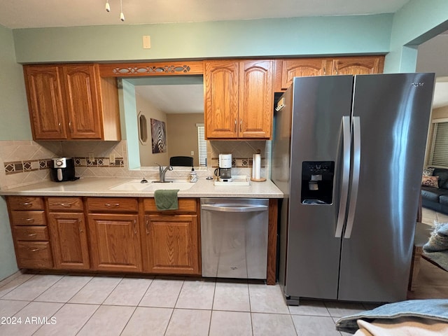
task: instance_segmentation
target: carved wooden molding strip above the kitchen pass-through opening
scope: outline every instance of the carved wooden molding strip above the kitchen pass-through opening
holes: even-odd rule
[[[202,61],[99,64],[99,74],[102,77],[202,75],[203,73]]]

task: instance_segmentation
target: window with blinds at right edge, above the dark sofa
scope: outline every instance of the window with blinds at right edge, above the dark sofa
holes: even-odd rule
[[[448,168],[448,119],[433,120],[428,165]]]

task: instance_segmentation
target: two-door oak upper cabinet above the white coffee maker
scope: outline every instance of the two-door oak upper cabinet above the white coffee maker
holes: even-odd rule
[[[274,61],[205,63],[207,139],[269,139]]]

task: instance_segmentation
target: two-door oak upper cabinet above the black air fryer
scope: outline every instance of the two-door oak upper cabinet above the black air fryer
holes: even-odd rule
[[[33,139],[120,140],[116,78],[98,64],[24,66]]]

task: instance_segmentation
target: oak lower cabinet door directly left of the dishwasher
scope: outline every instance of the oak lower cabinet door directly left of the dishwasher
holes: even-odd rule
[[[200,274],[197,216],[145,217],[149,272]]]

